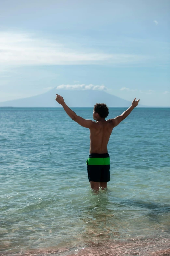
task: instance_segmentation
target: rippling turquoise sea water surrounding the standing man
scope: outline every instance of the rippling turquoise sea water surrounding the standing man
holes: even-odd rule
[[[73,110],[92,119],[92,108]],[[108,190],[94,193],[87,128],[61,108],[0,108],[1,250],[170,234],[169,116],[135,108],[113,129]]]

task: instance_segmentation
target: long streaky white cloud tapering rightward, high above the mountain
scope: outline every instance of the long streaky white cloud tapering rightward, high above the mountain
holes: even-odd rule
[[[94,50],[69,49],[64,44],[32,34],[0,32],[0,64],[11,65],[73,65],[129,64],[149,59],[144,55],[105,54]]]

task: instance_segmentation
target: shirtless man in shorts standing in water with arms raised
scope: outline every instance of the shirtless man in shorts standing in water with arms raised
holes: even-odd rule
[[[109,114],[107,105],[96,103],[93,109],[95,122],[78,116],[65,104],[62,96],[56,95],[55,100],[62,105],[67,115],[79,125],[90,129],[90,155],[86,161],[88,178],[93,190],[98,191],[100,187],[104,190],[107,182],[110,181],[110,156],[107,151],[110,135],[113,128],[119,125],[138,105],[139,99],[135,101],[135,98],[132,105],[121,115],[108,120],[105,120]]]

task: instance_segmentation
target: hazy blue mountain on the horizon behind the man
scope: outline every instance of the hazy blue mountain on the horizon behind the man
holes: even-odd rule
[[[69,107],[94,107],[96,103],[106,103],[108,107],[130,107],[132,103],[105,91],[65,90],[56,89],[55,87],[40,95],[0,102],[0,107],[61,107],[55,100],[56,93],[64,98]],[[144,106],[139,105],[139,107]]]

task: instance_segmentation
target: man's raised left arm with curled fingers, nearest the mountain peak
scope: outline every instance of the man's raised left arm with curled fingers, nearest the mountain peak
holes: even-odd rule
[[[73,110],[71,110],[67,104],[64,102],[64,99],[62,96],[56,94],[56,101],[62,105],[62,107],[64,108],[65,112],[67,113],[67,115],[69,117],[71,117],[72,120],[74,120],[75,122],[77,122],[79,125],[86,127],[86,128],[91,128],[93,125],[93,121],[90,119],[84,119],[81,116],[78,116]]]

